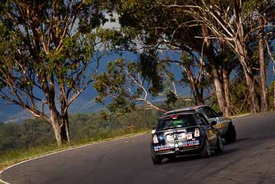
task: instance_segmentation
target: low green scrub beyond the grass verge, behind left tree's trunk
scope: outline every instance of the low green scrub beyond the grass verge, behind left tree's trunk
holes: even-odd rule
[[[102,114],[74,114],[69,117],[72,145],[100,141],[125,134],[149,130],[157,123],[159,114],[153,110],[131,112],[124,116],[111,114],[102,119]],[[23,123],[2,123],[0,125],[1,155],[16,150],[46,149],[54,145],[54,132],[41,119],[28,119]],[[56,149],[56,148],[55,148]],[[46,149],[47,150],[47,149]]]

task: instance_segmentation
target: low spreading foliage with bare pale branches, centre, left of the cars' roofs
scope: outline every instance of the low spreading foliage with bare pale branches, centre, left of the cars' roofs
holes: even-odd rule
[[[167,70],[168,63],[157,63],[157,54],[147,52],[140,54],[140,61],[118,59],[109,62],[106,71],[96,77],[96,101],[104,103],[108,99],[107,108],[111,112],[126,114],[149,109],[166,112],[153,103],[156,96],[167,96],[168,103],[180,99],[174,76]]]

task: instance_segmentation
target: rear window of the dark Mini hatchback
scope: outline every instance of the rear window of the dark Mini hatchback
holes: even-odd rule
[[[197,125],[197,121],[192,114],[181,114],[168,116],[165,119],[159,119],[157,131],[168,130],[180,127],[190,127]]]

